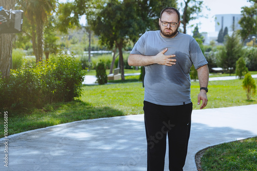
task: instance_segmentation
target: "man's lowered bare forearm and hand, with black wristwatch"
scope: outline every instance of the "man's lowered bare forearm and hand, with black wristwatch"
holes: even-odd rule
[[[208,66],[205,65],[203,67],[200,67],[197,69],[197,74],[198,74],[198,79],[199,79],[199,84],[200,88],[208,87],[208,81],[209,81],[209,69]],[[202,100],[203,103],[200,106],[200,109],[204,109],[205,106],[207,105],[208,98],[207,98],[207,92],[205,90],[200,90],[200,93],[198,94],[198,102],[197,104],[200,104],[200,101]]]

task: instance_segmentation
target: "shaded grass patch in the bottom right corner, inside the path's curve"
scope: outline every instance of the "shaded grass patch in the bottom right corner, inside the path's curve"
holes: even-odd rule
[[[257,170],[257,137],[219,144],[201,158],[203,171]]]

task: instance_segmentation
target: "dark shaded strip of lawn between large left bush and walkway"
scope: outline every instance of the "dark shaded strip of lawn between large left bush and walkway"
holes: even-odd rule
[[[48,104],[43,109],[27,111],[8,111],[8,135],[40,129],[78,120],[124,116],[121,111],[104,107],[95,107],[81,100]],[[1,114],[0,130],[4,130],[4,115]],[[4,135],[0,135],[0,138]]]

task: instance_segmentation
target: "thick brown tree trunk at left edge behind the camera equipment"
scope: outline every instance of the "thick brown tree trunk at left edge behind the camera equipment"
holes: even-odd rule
[[[0,6],[6,10],[14,9],[15,2],[14,0],[0,0]],[[0,72],[2,72],[2,77],[9,77],[10,74],[13,37],[14,34],[0,34]]]

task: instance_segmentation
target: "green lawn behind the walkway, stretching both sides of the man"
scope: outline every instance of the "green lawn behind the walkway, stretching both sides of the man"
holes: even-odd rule
[[[138,77],[127,76],[126,80],[133,81]],[[205,109],[257,104],[256,95],[252,100],[246,100],[242,82],[239,79],[210,81],[208,105]],[[255,83],[257,84],[256,78]],[[194,110],[199,109],[196,104],[198,93],[199,83],[192,82],[191,98]],[[43,109],[7,111],[9,135],[83,119],[143,114],[143,96],[144,88],[142,82],[138,81],[84,86],[82,97],[72,102],[49,104]],[[0,130],[4,130],[4,112],[0,115]],[[1,134],[0,138],[3,136]]]

